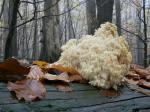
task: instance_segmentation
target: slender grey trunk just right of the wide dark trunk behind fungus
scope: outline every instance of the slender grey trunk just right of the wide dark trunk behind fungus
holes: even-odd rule
[[[118,34],[121,35],[121,7],[120,0],[115,0],[116,8],[116,25],[118,27]]]

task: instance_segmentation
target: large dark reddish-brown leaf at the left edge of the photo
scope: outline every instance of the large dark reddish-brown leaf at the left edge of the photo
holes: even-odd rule
[[[0,63],[0,80],[16,81],[25,78],[24,75],[29,73],[30,68],[20,65],[15,58],[8,58]]]

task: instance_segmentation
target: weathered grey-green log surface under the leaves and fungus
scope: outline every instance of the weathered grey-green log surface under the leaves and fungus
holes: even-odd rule
[[[18,101],[5,83],[0,83],[0,112],[150,112],[150,97],[126,86],[117,97],[104,97],[87,84],[71,83],[72,92],[60,92],[45,85],[46,97],[39,101]]]

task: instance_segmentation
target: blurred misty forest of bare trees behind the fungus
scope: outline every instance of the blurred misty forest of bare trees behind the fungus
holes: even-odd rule
[[[150,63],[150,0],[0,0],[0,60],[56,61],[71,38],[110,21],[129,43],[133,63]]]

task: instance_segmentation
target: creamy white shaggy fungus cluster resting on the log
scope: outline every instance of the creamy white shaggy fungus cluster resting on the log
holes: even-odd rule
[[[131,63],[128,48],[116,26],[107,22],[94,35],[69,40],[56,63],[75,68],[93,86],[117,89]]]

